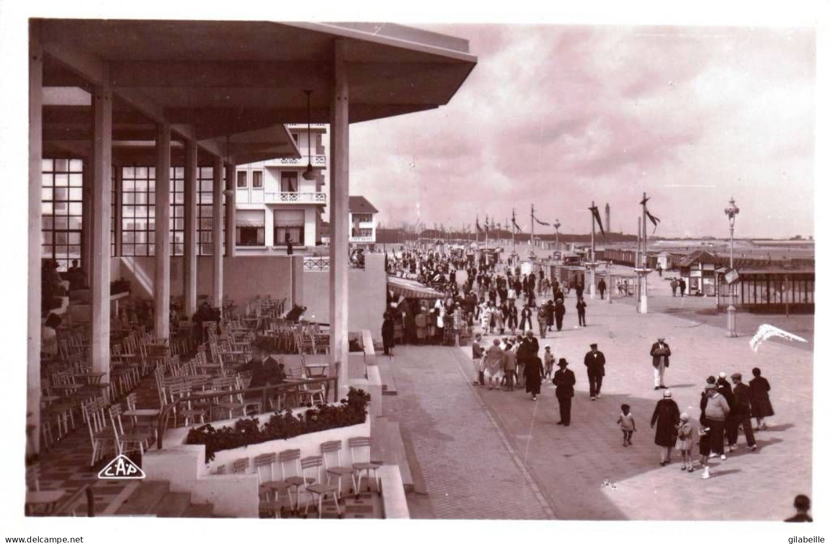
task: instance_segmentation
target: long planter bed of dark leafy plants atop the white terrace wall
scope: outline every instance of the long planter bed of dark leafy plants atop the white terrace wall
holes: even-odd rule
[[[210,462],[216,452],[224,449],[362,424],[366,421],[369,399],[371,397],[364,390],[352,387],[349,388],[347,399],[341,401],[341,404],[322,404],[307,409],[300,417],[295,416],[291,410],[283,410],[271,415],[263,425],[260,425],[258,418],[238,419],[232,427],[221,429],[216,429],[211,424],[202,425],[188,432],[185,444],[203,444],[205,462]]]

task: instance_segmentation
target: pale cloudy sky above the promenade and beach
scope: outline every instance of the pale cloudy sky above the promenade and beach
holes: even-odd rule
[[[438,110],[352,125],[351,193],[382,223],[526,228],[534,203],[585,233],[593,199],[634,233],[646,191],[658,235],[725,237],[730,197],[736,236],[813,234],[813,31],[419,26],[479,63]]]

